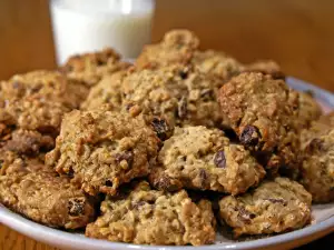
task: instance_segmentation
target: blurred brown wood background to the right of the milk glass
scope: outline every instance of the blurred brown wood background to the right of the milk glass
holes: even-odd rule
[[[163,0],[157,7],[154,40],[187,28],[204,49],[243,62],[272,58],[287,74],[334,91],[333,0]]]

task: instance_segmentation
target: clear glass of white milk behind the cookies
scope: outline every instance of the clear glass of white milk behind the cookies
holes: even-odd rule
[[[136,58],[150,41],[154,0],[51,0],[57,62],[111,47]]]

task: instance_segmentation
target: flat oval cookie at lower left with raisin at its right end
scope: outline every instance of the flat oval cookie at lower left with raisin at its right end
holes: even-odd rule
[[[77,229],[92,221],[94,202],[38,160],[14,158],[2,162],[1,172],[0,201],[13,211],[53,228]]]

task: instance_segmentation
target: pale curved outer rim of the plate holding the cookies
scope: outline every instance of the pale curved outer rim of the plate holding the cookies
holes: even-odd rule
[[[326,104],[334,108],[334,93],[293,77],[286,78],[286,82],[289,87],[301,91],[312,90],[314,92],[315,98],[321,99]],[[310,224],[303,229],[298,229],[295,231],[291,231],[277,236],[272,236],[268,238],[243,241],[243,242],[222,242],[222,243],[200,246],[200,247],[134,244],[134,243],[112,242],[107,240],[91,239],[91,238],[86,238],[84,236],[73,234],[71,232],[49,228],[47,226],[31,221],[24,218],[23,216],[20,216],[19,213],[16,213],[7,209],[1,203],[0,203],[0,223],[3,223],[4,226],[22,234],[26,234],[30,238],[33,238],[45,243],[49,243],[53,246],[57,244],[58,247],[67,247],[67,248],[70,246],[73,249],[89,248],[89,249],[100,249],[100,250],[110,250],[110,249],[114,250],[117,249],[125,249],[125,250],[187,249],[190,250],[191,249],[194,250],[195,248],[198,250],[257,249],[257,248],[264,248],[268,246],[288,243],[292,242],[293,240],[304,239],[315,233],[323,232],[324,234],[327,234],[334,232],[334,214],[332,214],[330,218],[321,222]]]

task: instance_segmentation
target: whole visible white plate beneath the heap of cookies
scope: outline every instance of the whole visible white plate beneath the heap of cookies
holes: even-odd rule
[[[323,106],[324,111],[334,110],[334,94],[301,80],[288,78],[288,84],[297,90],[312,90]],[[51,229],[32,222],[0,204],[0,222],[38,241],[72,250],[226,250],[226,249],[291,249],[318,239],[327,233],[334,232],[334,202],[328,204],[316,204],[312,207],[312,223],[301,230],[273,236],[268,238],[233,241],[217,234],[217,241],[212,246],[203,247],[165,247],[165,246],[139,246],[109,242],[85,238],[81,233],[71,233]]]

